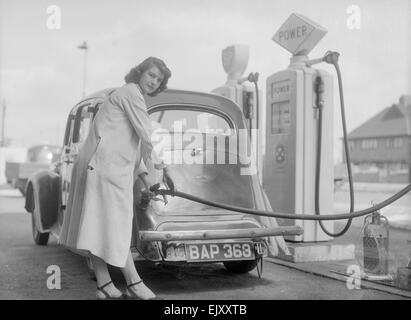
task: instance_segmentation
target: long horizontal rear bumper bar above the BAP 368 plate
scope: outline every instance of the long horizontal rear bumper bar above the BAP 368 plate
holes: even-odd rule
[[[184,241],[261,238],[271,236],[301,235],[303,229],[298,226],[275,228],[249,228],[228,230],[198,231],[139,231],[140,241]]]

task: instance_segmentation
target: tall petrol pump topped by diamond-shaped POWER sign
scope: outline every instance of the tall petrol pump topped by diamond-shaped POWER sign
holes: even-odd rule
[[[272,38],[292,54],[288,68],[269,76],[266,84],[263,187],[274,211],[315,213],[315,174],[320,160],[319,208],[324,214],[333,212],[333,78],[312,68],[308,60],[326,33],[310,19],[291,14]],[[321,133],[319,103],[323,109]],[[319,134],[321,159],[315,152]],[[280,224],[303,227],[302,235],[288,237],[291,241],[330,239],[317,221],[282,220]],[[332,232],[332,222],[324,226]]]

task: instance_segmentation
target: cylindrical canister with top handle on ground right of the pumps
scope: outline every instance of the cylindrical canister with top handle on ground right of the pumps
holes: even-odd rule
[[[389,222],[379,211],[364,218],[363,268],[366,275],[388,275]]]

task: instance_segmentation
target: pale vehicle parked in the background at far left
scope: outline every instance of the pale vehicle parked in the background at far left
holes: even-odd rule
[[[61,147],[40,144],[27,150],[26,162],[6,162],[6,179],[25,195],[28,178],[39,170],[48,170],[60,159]]]

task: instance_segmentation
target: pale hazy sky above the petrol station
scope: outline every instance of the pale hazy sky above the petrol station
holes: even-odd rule
[[[360,9],[349,28],[350,6]],[[61,11],[59,29],[50,17]],[[411,4],[408,0],[0,0],[0,101],[6,104],[6,137],[15,146],[61,145],[67,114],[82,97],[87,41],[86,93],[124,83],[148,56],[172,70],[169,87],[210,92],[226,74],[221,51],[245,44],[245,75],[259,72],[260,88],[286,69],[290,53],[271,38],[291,13],[328,33],[311,51],[338,51],[348,131],[400,95],[411,94]],[[334,74],[329,65],[317,65]],[[340,106],[334,76],[335,159],[341,158]],[[264,92],[265,94],[265,92]],[[263,99],[264,100],[264,99]]]

